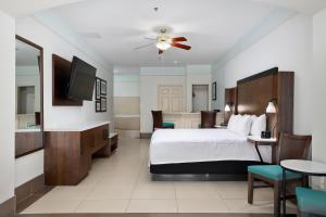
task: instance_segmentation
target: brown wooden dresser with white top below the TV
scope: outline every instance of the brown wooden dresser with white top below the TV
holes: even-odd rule
[[[109,122],[46,130],[46,186],[78,184],[88,175],[92,155],[110,156],[108,150]]]

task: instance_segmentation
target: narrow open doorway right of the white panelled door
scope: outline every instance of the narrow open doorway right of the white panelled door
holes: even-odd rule
[[[209,110],[209,85],[192,85],[192,112]]]

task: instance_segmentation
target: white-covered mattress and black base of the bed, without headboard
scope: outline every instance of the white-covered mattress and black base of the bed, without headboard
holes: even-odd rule
[[[271,146],[260,152],[271,162]],[[254,145],[228,129],[159,129],[150,143],[152,174],[246,175],[253,164],[262,164]]]

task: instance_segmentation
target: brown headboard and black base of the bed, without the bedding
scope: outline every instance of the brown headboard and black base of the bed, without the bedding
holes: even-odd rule
[[[279,72],[277,67],[238,80],[235,102],[236,114],[261,115],[265,113],[267,103],[276,103],[277,113],[267,116],[267,129],[274,126],[277,137],[280,132],[292,132],[293,128],[293,88],[294,73]],[[273,151],[275,156],[275,150]],[[247,177],[249,165],[261,162],[218,161],[183,164],[150,165],[152,175],[218,175],[235,180]]]

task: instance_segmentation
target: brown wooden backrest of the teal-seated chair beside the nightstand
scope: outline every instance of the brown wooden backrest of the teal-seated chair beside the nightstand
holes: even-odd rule
[[[281,133],[276,156],[277,164],[283,159],[308,159],[311,136]]]

